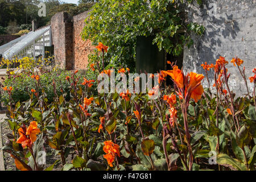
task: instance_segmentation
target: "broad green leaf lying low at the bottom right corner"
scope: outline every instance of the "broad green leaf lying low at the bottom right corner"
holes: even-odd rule
[[[229,167],[232,170],[246,171],[245,164],[243,164],[242,162],[240,162],[237,159],[231,158],[230,156],[228,156],[226,154],[218,154],[216,156],[216,159],[217,159],[217,163],[222,166]]]

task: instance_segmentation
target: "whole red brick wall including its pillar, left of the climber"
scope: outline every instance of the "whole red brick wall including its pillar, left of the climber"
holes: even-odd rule
[[[82,40],[81,32],[89,11],[76,16],[61,12],[51,19],[52,44],[55,59],[65,69],[86,69],[88,55],[95,48],[89,40]]]

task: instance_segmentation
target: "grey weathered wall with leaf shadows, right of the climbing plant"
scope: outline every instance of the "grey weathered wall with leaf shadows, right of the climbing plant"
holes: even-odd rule
[[[234,56],[240,57],[246,67],[246,77],[252,76],[256,67],[256,0],[203,0],[203,5],[189,5],[188,19],[202,24],[205,34],[193,35],[195,44],[184,50],[185,72],[204,73],[200,67],[205,61],[215,63],[219,56],[230,62]],[[238,95],[246,93],[245,83],[237,67],[229,63],[231,73],[229,85]],[[210,72],[211,85],[213,72]],[[253,84],[249,82],[250,91]],[[204,83],[206,84],[206,82]],[[207,85],[206,85],[207,86]]]

